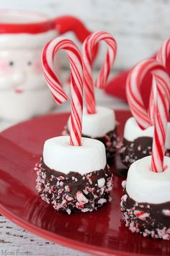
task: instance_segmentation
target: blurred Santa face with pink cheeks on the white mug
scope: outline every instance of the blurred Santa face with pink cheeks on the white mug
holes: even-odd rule
[[[45,85],[40,67],[40,50],[0,51],[0,93],[24,93]]]

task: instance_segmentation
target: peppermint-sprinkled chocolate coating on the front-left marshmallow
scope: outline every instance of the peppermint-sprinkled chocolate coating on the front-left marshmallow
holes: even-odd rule
[[[112,174],[104,170],[81,175],[78,172],[63,174],[48,168],[43,160],[35,166],[36,189],[42,200],[61,213],[78,213],[97,210],[108,200],[112,190]]]

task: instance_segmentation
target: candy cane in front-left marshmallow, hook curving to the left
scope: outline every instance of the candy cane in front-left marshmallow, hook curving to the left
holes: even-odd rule
[[[55,38],[42,50],[42,71],[53,98],[58,104],[68,100],[60,80],[55,74],[54,57],[57,51],[65,50],[71,68],[71,130],[70,144],[81,145],[81,122],[83,111],[83,66],[79,48],[71,40]]]

